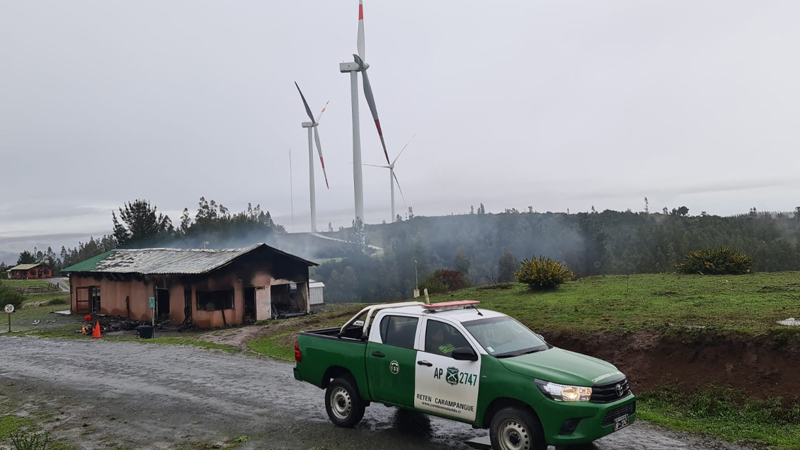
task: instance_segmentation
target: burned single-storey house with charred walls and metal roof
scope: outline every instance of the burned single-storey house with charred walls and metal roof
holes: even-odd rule
[[[310,311],[308,268],[266,244],[245,249],[115,249],[63,269],[70,310],[203,328]],[[150,297],[155,308],[150,309]]]

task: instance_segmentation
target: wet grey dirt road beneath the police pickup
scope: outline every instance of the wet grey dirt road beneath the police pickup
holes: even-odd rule
[[[76,449],[469,448],[485,430],[373,404],[357,428],[327,419],[322,390],[292,365],[188,346],[0,337],[0,392],[45,413]],[[582,450],[739,450],[637,423]]]

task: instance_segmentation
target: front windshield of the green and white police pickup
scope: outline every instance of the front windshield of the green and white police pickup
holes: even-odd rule
[[[462,325],[494,357],[520,356],[550,348],[536,333],[508,316],[462,322]]]

